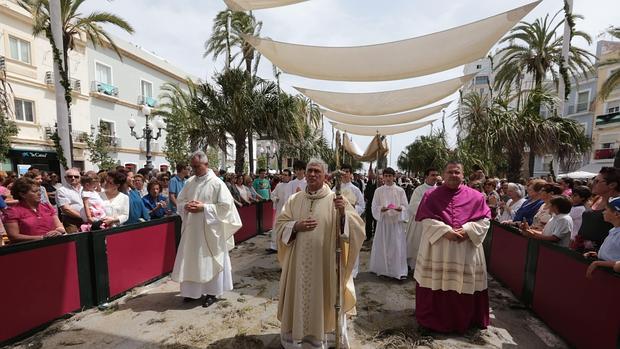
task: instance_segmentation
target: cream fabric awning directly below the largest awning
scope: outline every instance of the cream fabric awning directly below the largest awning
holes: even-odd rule
[[[434,84],[381,92],[331,92],[302,87],[295,89],[315,103],[333,111],[361,116],[385,115],[434,103],[456,92],[475,75],[469,74]]]

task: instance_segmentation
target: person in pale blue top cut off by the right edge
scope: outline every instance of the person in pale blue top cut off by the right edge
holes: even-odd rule
[[[586,252],[584,257],[596,258],[599,260],[592,262],[588,267],[586,276],[592,277],[592,273],[597,267],[614,268],[620,271],[620,197],[609,199],[609,203],[603,212],[605,222],[611,223],[614,227],[609,231],[609,235],[603,241],[601,248],[597,252]]]

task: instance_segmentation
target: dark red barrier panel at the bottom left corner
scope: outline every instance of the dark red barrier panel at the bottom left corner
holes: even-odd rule
[[[76,242],[29,244],[0,255],[0,342],[80,309]]]

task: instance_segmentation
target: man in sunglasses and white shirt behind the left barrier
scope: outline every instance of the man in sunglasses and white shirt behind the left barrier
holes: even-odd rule
[[[67,184],[56,190],[56,204],[60,211],[60,220],[67,233],[77,233],[84,223],[80,211],[84,208],[80,171],[77,168],[65,172]]]

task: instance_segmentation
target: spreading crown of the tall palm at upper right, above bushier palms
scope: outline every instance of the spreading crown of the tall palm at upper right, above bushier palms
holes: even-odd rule
[[[533,77],[534,85],[529,86],[530,89],[542,88],[548,74],[556,85],[559,79],[563,78],[566,79],[565,85],[570,86],[569,74],[576,80],[577,76],[585,75],[592,70],[594,55],[579,47],[570,46],[566,67],[568,74],[561,74],[564,39],[562,35],[557,35],[557,32],[564,24],[564,20],[554,23],[556,16],[549,18],[549,15],[546,15],[533,23],[520,22],[500,41],[500,44],[508,43],[508,45],[496,53],[496,56],[501,58],[495,67],[496,87],[505,91],[517,84],[520,88],[524,72]],[[571,16],[573,19],[583,18],[579,15]],[[571,38],[573,37],[583,38],[588,44],[592,43],[592,38],[587,33],[574,28],[571,34]]]

